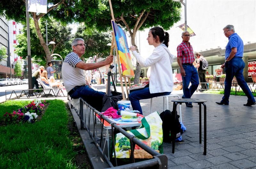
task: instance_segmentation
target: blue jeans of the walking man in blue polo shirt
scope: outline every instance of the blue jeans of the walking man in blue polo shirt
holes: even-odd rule
[[[236,76],[236,80],[238,85],[242,88],[244,91],[244,94],[248,97],[248,102],[255,102],[255,99],[252,95],[251,90],[249,89],[246,81],[244,80],[244,61],[241,57],[234,57],[230,61],[227,61],[225,63],[225,73],[226,73],[226,79],[225,79],[225,89],[224,89],[224,96],[222,97],[222,101],[225,103],[229,103],[228,99],[230,96],[231,91],[231,85],[233,77]]]

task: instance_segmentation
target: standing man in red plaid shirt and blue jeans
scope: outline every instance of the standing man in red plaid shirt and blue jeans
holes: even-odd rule
[[[193,47],[190,45],[190,34],[184,31],[181,34],[182,42],[177,47],[177,62],[180,67],[180,74],[183,83],[182,98],[191,98],[199,85],[199,78],[196,68],[193,65],[195,61]],[[188,88],[189,83],[191,86]],[[193,107],[192,103],[186,103],[187,107]]]

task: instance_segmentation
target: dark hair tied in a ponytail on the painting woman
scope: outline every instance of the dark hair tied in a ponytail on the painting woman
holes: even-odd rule
[[[151,28],[149,31],[151,31],[154,39],[156,39],[156,36],[158,36],[158,40],[163,43],[166,47],[168,47],[168,43],[169,43],[169,33],[168,32],[164,32],[163,28],[161,27],[153,27]],[[165,35],[164,35],[165,33]]]

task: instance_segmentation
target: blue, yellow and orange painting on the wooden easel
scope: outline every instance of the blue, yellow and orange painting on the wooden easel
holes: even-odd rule
[[[112,21],[112,25],[115,32],[116,45],[118,49],[118,55],[119,55],[119,60],[121,63],[123,75],[128,77],[133,77],[134,72],[133,72],[133,66],[132,66],[132,59],[129,53],[129,47],[128,47],[125,32],[114,21]]]

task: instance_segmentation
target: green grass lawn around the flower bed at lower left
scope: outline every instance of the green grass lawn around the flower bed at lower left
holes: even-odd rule
[[[0,104],[0,121],[5,112],[18,110],[30,102]],[[62,100],[49,100],[41,120],[1,125],[0,168],[91,168],[76,162],[77,155],[85,151],[72,123],[67,104]]]

